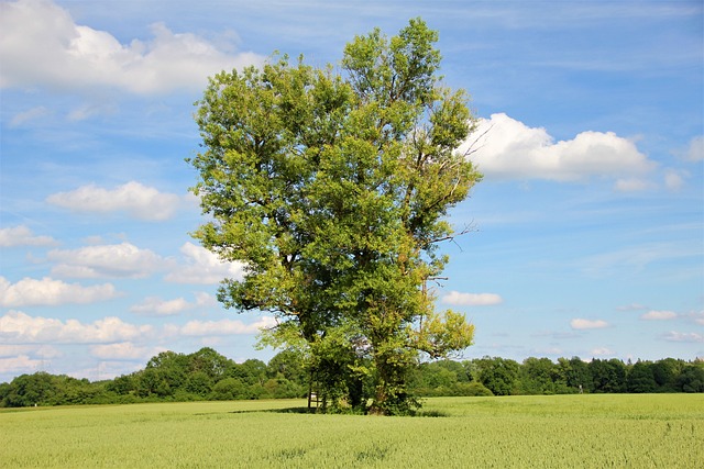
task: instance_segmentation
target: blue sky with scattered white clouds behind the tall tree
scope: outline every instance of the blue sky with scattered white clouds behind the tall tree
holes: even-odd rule
[[[268,360],[274,320],[215,298],[241,267],[189,235],[194,103],[220,70],[338,64],[416,16],[481,136],[433,286],[475,325],[461,358],[704,357],[701,1],[1,0],[0,382]]]

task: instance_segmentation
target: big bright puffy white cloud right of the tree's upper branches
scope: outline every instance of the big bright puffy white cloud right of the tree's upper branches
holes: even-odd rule
[[[486,133],[485,133],[486,132]],[[485,133],[485,134],[484,134]],[[582,132],[573,139],[554,142],[544,129],[529,127],[506,114],[481,119],[477,131],[461,146],[488,177],[581,181],[590,177],[625,177],[625,181],[649,172],[656,164],[636,145],[613,132]],[[634,182],[622,182],[622,186]]]

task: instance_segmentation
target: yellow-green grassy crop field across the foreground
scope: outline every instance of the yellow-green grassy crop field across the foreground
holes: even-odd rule
[[[304,404],[0,410],[0,467],[704,467],[704,394],[435,398],[419,417]]]

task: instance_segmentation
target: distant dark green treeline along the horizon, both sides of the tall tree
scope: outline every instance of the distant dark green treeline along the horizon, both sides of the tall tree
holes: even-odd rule
[[[188,355],[161,353],[144,369],[112,380],[90,382],[43,371],[22,375],[0,383],[0,406],[304,398],[309,382],[305,361],[293,351],[282,351],[268,364],[237,364],[206,347]],[[484,357],[422,362],[409,383],[418,397],[704,392],[704,361],[586,362],[574,357],[557,362],[527,358],[520,364]]]

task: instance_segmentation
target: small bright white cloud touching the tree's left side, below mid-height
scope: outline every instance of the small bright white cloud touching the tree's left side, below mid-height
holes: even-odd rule
[[[180,247],[186,264],[176,267],[166,280],[176,283],[219,283],[226,278],[241,280],[244,275],[240,263],[224,263],[202,246],[186,243]]]

